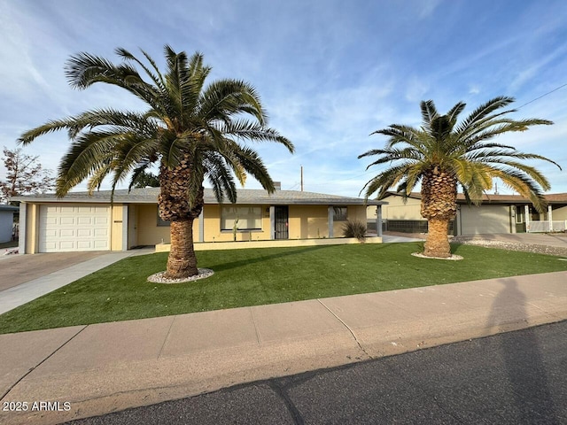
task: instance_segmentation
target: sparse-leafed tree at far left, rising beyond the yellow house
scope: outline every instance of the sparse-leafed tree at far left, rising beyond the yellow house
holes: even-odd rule
[[[5,204],[11,197],[34,195],[53,190],[55,179],[50,171],[43,169],[32,157],[22,153],[21,149],[10,151],[4,146],[5,180],[0,181],[0,202]]]

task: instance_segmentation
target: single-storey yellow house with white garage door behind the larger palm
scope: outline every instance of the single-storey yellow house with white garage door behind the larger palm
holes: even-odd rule
[[[126,251],[169,242],[169,223],[159,218],[159,188],[71,192],[17,197],[19,251]],[[370,201],[368,205],[384,204]],[[376,206],[375,206],[376,208]],[[195,220],[196,243],[308,239],[342,236],[346,220],[366,220],[364,199],[294,190],[240,189],[237,204],[220,205],[205,189],[205,207]]]

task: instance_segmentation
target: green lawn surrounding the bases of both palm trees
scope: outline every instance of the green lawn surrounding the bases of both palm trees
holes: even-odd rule
[[[199,267],[215,274],[170,285],[146,282],[167,253],[130,257],[0,315],[0,333],[567,270],[528,252],[456,245],[464,259],[444,261],[415,251],[418,243],[200,251]]]

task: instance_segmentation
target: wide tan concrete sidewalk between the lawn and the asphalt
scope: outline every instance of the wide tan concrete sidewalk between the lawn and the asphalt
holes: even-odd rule
[[[0,422],[58,423],[565,319],[557,272],[0,335],[3,405],[27,402]],[[40,401],[59,411],[33,410]]]

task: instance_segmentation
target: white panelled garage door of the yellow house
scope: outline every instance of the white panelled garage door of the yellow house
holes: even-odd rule
[[[110,250],[110,208],[41,205],[39,251]]]

